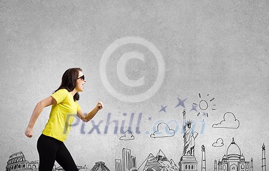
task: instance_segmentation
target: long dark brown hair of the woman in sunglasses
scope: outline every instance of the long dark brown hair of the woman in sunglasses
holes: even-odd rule
[[[71,92],[76,87],[76,81],[78,78],[79,71],[82,71],[80,68],[70,68],[65,71],[63,77],[61,77],[61,84],[60,87],[55,90],[57,92],[60,89],[66,89],[68,92]],[[74,101],[79,100],[79,93],[77,92],[74,97]]]

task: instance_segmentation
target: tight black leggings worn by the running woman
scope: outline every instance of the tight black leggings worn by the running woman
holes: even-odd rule
[[[78,171],[77,166],[64,142],[41,134],[37,140],[39,171],[53,169],[55,160],[65,171]]]

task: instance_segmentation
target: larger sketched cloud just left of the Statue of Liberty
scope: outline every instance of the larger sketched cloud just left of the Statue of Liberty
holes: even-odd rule
[[[173,137],[175,131],[170,129],[166,123],[159,123],[157,126],[157,131],[150,135],[151,138],[163,138],[163,137]]]

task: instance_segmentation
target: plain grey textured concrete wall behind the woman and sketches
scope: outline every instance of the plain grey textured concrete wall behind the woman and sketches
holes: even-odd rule
[[[122,148],[137,168],[159,149],[178,165],[185,109],[198,133],[198,170],[202,145],[214,170],[233,138],[261,170],[261,147],[269,146],[268,24],[265,0],[0,1],[1,170],[19,151],[38,160],[50,108],[32,138],[26,126],[71,67],[87,79],[81,108],[104,103],[91,122],[74,123],[65,142],[77,165],[103,161],[115,170]],[[134,139],[122,140],[128,130]]]

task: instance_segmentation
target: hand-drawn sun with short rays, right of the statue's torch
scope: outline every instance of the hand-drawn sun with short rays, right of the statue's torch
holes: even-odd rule
[[[206,117],[209,117],[209,112],[211,110],[216,110],[215,109],[216,104],[211,104],[211,103],[213,103],[212,101],[215,100],[215,97],[213,97],[212,99],[210,99],[209,98],[209,94],[208,94],[208,97],[202,98],[200,93],[199,93],[199,97],[200,97],[199,103],[198,104],[197,103],[193,103],[194,105],[193,105],[193,109],[192,110],[197,111],[197,107],[199,106],[199,110],[200,111],[199,112],[197,111],[198,112],[197,116],[199,116],[201,113],[203,113],[203,115],[205,115]],[[207,100],[207,99],[210,99],[210,100]]]

